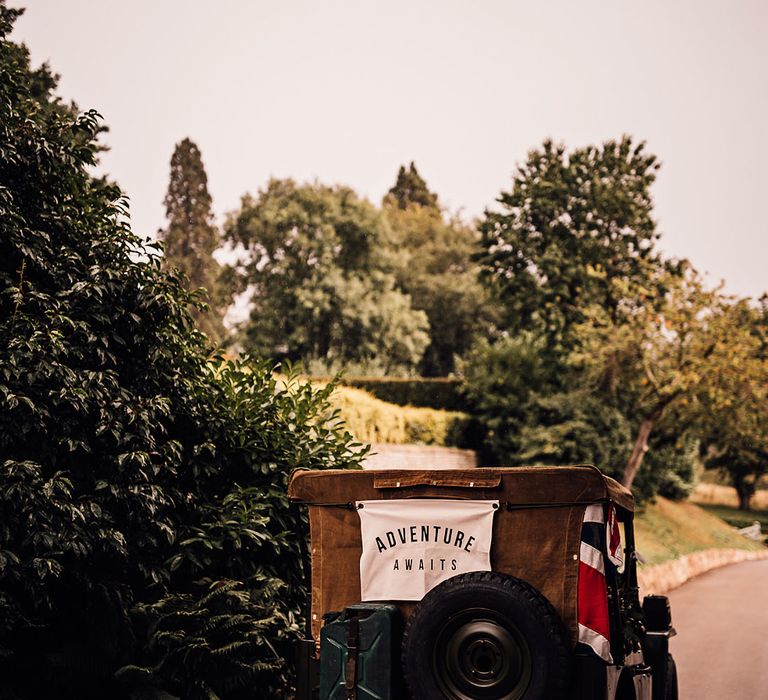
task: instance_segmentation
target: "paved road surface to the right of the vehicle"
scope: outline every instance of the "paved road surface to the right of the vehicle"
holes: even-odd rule
[[[710,571],[669,598],[680,699],[768,699],[768,559]]]

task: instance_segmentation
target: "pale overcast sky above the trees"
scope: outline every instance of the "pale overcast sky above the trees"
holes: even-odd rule
[[[9,0],[14,37],[111,129],[134,230],[163,225],[174,144],[201,148],[217,215],[270,176],[379,201],[415,160],[482,214],[547,137],[644,139],[662,248],[768,290],[765,0]]]

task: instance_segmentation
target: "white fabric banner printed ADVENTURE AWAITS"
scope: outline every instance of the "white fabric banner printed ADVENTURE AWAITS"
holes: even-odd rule
[[[361,600],[421,600],[451,576],[491,570],[498,501],[358,501]]]

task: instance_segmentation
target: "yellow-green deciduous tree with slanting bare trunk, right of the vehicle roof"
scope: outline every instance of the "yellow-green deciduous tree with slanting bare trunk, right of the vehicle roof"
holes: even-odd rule
[[[618,284],[618,283],[617,283]],[[721,418],[744,376],[749,341],[734,324],[734,307],[707,289],[692,268],[665,275],[659,293],[632,295],[611,311],[592,306],[578,326],[573,361],[585,380],[622,406],[636,426],[622,475],[631,486],[649,449],[649,439],[671,407],[685,407],[693,420],[708,410]],[[729,388],[718,389],[723,383]]]

